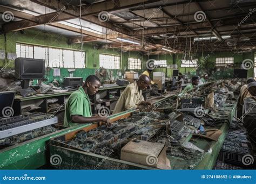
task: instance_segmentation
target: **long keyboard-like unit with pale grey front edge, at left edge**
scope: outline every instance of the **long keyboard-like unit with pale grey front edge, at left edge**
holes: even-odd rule
[[[42,128],[58,123],[56,116],[36,112],[29,116],[15,116],[0,119],[0,139],[28,132],[30,130]]]

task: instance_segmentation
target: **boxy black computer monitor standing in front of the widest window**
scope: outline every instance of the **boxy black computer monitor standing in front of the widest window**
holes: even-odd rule
[[[42,79],[45,74],[45,60],[31,58],[15,59],[15,77],[23,80],[22,87],[29,87],[30,79]]]

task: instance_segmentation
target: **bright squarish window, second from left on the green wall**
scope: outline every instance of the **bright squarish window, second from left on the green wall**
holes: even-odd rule
[[[120,69],[120,56],[99,54],[99,67],[107,69]]]

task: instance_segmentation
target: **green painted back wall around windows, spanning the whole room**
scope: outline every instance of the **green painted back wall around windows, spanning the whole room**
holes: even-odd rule
[[[24,31],[17,31],[17,32],[10,32],[4,36],[3,34],[0,35],[0,49],[4,49],[6,54],[7,53],[16,53],[16,43],[27,43],[33,45],[42,45],[42,46],[50,46],[50,47],[58,47],[58,48],[68,48],[68,49],[81,49],[81,44],[68,44],[68,38],[53,34],[49,32],[39,31],[39,30],[24,30]],[[73,72],[73,76],[83,76],[84,78],[87,75],[94,74],[95,69],[99,69],[99,54],[114,54],[121,56],[122,60],[120,63],[120,69],[113,69],[113,76],[114,78],[118,77],[118,72],[122,72],[124,74],[125,71],[128,69],[128,58],[129,56],[133,58],[139,58],[142,61],[142,70],[135,70],[136,72],[142,73],[143,70],[146,69],[146,61],[149,59],[156,59],[156,60],[167,60],[167,68],[156,68],[154,71],[156,72],[165,72],[167,77],[172,76],[172,68],[170,65],[177,64],[179,68],[179,72],[187,73],[195,72],[195,68],[181,68],[181,59],[183,58],[183,54],[164,54],[164,55],[143,55],[140,52],[121,52],[120,49],[96,49],[95,44],[86,43],[83,45],[83,51],[86,52],[86,68],[83,69],[76,69]],[[5,54],[5,55],[6,55]],[[208,55],[208,56],[207,56]],[[203,59],[203,56],[207,56],[206,59]],[[204,71],[204,69],[212,69],[215,68],[215,58],[218,57],[234,57],[234,68],[240,68],[240,65],[243,60],[251,59],[254,61],[254,52],[251,53],[242,53],[237,54],[233,52],[212,52],[212,53],[196,53],[194,54],[194,58],[198,58],[199,68],[200,71]],[[0,67],[5,68],[13,68],[14,67],[14,60],[7,60],[6,56],[4,60],[0,59]],[[225,72],[217,72],[219,77],[230,77],[233,73],[233,69],[225,68]],[[69,72],[67,68],[61,69],[61,77],[55,77],[60,82],[63,80],[63,77],[69,76]],[[248,77],[253,76],[253,69],[248,70]],[[46,71],[46,77],[48,81],[51,82],[53,80],[53,70],[49,69]]]

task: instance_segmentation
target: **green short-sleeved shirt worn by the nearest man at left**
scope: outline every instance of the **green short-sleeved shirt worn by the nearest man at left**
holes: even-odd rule
[[[90,103],[89,96],[85,93],[82,87],[73,92],[66,103],[64,126],[71,127],[79,125],[79,123],[73,123],[71,121],[71,116],[73,115],[92,117]]]

